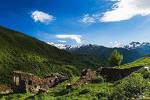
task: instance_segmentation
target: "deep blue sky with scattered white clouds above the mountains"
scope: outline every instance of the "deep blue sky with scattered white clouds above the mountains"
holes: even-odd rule
[[[150,41],[150,0],[1,0],[0,25],[45,42]]]

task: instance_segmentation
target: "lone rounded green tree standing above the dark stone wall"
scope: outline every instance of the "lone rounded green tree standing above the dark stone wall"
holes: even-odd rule
[[[110,66],[119,66],[123,60],[123,55],[118,52],[117,50],[114,50],[112,54],[109,57],[109,65]]]

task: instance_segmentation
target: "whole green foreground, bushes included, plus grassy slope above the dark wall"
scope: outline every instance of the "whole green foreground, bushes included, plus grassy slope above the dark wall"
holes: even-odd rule
[[[132,63],[121,65],[118,68],[130,68],[139,65],[149,65],[150,58],[141,58]],[[0,95],[0,100],[149,100],[150,99],[150,72],[144,67],[131,75],[114,82],[99,81],[84,84],[76,89],[67,89],[68,83],[74,83],[79,77],[71,77],[56,87],[50,88],[48,93],[18,93]]]

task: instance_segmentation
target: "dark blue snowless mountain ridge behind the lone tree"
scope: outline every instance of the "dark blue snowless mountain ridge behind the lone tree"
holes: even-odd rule
[[[103,66],[107,66],[107,67],[109,66],[108,65],[108,58],[110,57],[111,53],[114,50],[117,50],[121,54],[123,54],[122,64],[135,61],[135,60],[144,56],[144,53],[140,53],[136,49],[109,48],[109,47],[92,45],[92,44],[83,45],[79,48],[70,48],[67,50],[71,53],[74,53],[74,54],[86,54],[89,56],[93,56],[93,57],[99,59],[103,63]]]

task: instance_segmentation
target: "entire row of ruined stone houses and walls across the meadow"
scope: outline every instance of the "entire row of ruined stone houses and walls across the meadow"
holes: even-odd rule
[[[97,71],[92,71],[91,69],[84,69],[81,72],[80,78],[73,84],[66,84],[66,88],[72,89],[80,87],[81,85],[91,83],[92,81],[96,80],[98,74],[107,75],[109,73],[109,75],[107,75],[107,78],[118,80],[130,75],[132,72],[135,72],[140,68],[142,67],[139,66],[130,69],[99,68]],[[64,76],[59,73],[50,74],[48,76],[40,78],[31,73],[26,73],[22,71],[14,71],[12,78],[13,84],[11,86],[11,89],[14,93],[48,93],[49,88],[52,88],[57,84],[60,84],[61,82],[69,79],[68,76]],[[11,92],[11,90],[8,90],[8,92]]]

